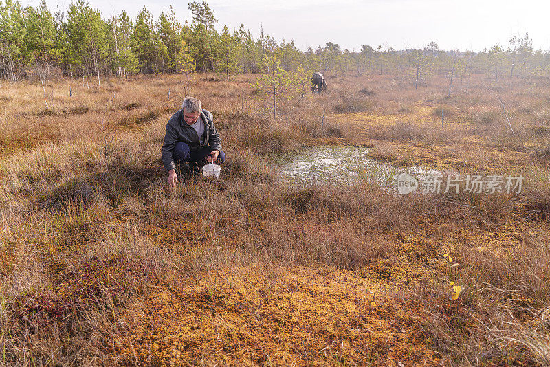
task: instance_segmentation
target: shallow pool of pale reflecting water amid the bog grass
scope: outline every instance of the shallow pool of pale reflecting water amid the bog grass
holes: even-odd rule
[[[397,175],[421,179],[439,171],[423,166],[395,167],[369,157],[355,146],[315,146],[280,159],[281,172],[296,183],[377,184],[397,188]]]

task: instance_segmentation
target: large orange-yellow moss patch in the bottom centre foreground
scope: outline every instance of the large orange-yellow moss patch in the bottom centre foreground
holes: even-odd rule
[[[396,311],[377,287],[328,267],[208,274],[129,311],[132,332],[119,336],[117,353],[130,364],[163,366],[437,364],[412,315]]]

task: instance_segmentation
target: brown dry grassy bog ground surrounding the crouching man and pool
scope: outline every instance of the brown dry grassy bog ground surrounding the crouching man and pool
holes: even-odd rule
[[[502,89],[513,135],[475,80],[441,98],[437,79],[415,91],[400,76],[329,75],[328,93],[266,120],[252,78],[64,80],[46,110],[41,87],[3,85],[0,365],[548,363],[538,85]],[[214,113],[228,160],[220,181],[168,188],[159,150],[185,90]],[[289,185],[274,155],[320,143],[522,173],[525,191]],[[453,302],[450,281],[463,287]]]

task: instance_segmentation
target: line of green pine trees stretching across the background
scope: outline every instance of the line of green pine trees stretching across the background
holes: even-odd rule
[[[45,0],[33,8],[19,1],[0,0],[0,77],[17,82],[41,80],[54,74],[97,78],[127,78],[132,74],[215,71],[231,74],[265,71],[275,58],[284,71],[357,71],[401,73],[423,85],[437,74],[461,83],[472,72],[503,76],[550,74],[550,52],[534,50],[528,34],[514,36],[508,45],[494,45],[483,52],[442,51],[431,42],[422,49],[395,50],[389,45],[360,51],[340,49],[327,42],[301,51],[294,41],[276,41],[264,34],[254,38],[241,24],[232,32],[218,20],[206,1],[188,4],[192,21],[180,22],[173,8],[158,19],[143,8],[135,19],[126,12],[104,19],[88,1],[74,0],[66,11],[52,12]]]

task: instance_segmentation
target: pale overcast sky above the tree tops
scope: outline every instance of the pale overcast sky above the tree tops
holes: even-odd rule
[[[70,0],[46,0],[50,9],[66,9]],[[144,6],[155,16],[173,5],[180,21],[190,20],[187,1],[89,0],[104,17],[122,10],[135,19]],[[534,0],[211,0],[217,29],[241,23],[258,36],[278,41],[294,39],[300,49],[328,41],[341,49],[361,45],[419,48],[436,41],[441,49],[478,51],[495,43],[507,47],[509,38],[529,32],[533,46],[550,48],[550,1]],[[36,6],[39,0],[22,0]]]

